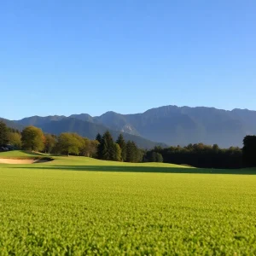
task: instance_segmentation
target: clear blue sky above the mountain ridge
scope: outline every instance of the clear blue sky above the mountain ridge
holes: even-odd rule
[[[0,117],[256,110],[255,14],[255,0],[3,0]]]

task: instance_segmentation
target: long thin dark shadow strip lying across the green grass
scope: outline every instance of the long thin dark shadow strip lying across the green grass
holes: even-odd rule
[[[172,168],[154,166],[15,166],[12,168],[55,170],[55,171],[87,171],[87,172],[158,172],[158,173],[206,173],[206,174],[246,174],[255,175],[256,169],[200,169]]]

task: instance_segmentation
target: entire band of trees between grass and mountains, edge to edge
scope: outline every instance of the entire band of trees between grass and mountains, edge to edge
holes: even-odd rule
[[[219,148],[217,144],[189,144],[185,147],[156,146],[150,150],[138,148],[133,141],[125,141],[122,134],[113,141],[109,131],[97,134],[95,140],[76,133],[63,132],[59,136],[44,134],[35,126],[23,131],[0,122],[0,150],[25,149],[48,154],[73,154],[126,162],[165,162],[199,168],[242,168],[256,166],[256,136],[243,139],[243,148]]]

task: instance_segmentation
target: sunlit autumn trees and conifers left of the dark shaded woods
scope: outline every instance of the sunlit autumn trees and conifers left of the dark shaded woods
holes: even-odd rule
[[[81,137],[77,133],[63,132],[59,136],[44,134],[35,126],[23,131],[9,129],[0,122],[0,146],[11,144],[15,148],[44,152],[48,154],[82,155],[100,160],[142,162],[144,151],[133,141],[125,142],[122,134],[116,142],[109,131],[98,134],[95,140]]]

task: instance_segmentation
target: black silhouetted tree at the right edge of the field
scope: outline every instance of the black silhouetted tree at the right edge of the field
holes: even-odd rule
[[[256,166],[256,136],[246,136],[243,139],[242,161],[246,167]]]

